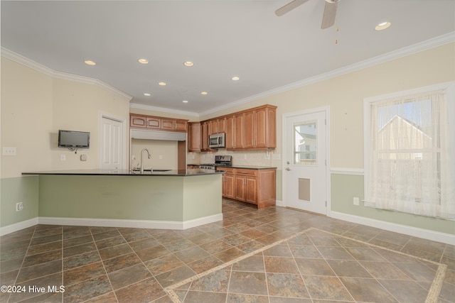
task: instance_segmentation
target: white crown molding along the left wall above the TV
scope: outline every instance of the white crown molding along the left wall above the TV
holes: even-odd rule
[[[119,97],[127,99],[127,101],[130,101],[131,99],[133,99],[133,97],[129,96],[129,94],[126,94],[126,93],[122,92],[121,90],[116,89],[115,87],[112,87],[109,84],[106,84],[105,82],[100,81],[99,79],[69,74],[68,72],[58,72],[58,71],[52,70],[49,67],[45,67],[44,65],[41,65],[38,62],[30,60],[27,57],[23,57],[22,55],[14,53],[11,50],[8,50],[3,47],[1,48],[1,56],[6,57],[7,59],[17,62],[23,66],[30,67],[31,69],[36,70],[37,72],[41,72],[44,75],[47,75],[49,77],[53,77],[56,79],[70,80],[70,81],[80,82],[80,83],[85,83],[85,84],[92,84],[92,85],[95,85],[96,87],[100,87],[101,89],[105,89],[107,92],[112,92],[113,94],[116,94]]]

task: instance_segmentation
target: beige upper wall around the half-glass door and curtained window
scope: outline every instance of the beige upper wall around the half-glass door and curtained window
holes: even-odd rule
[[[277,107],[277,149],[282,154],[282,115],[330,106],[331,167],[363,168],[363,99],[455,79],[454,43],[326,79],[247,104],[202,116],[201,120],[262,104]],[[273,161],[277,165],[281,162]]]

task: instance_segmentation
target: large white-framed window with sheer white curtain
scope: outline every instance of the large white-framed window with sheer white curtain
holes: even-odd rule
[[[364,101],[365,206],[455,219],[454,83]]]

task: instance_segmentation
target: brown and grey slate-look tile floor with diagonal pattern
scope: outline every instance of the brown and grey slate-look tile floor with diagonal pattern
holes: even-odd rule
[[[224,200],[223,215],[10,233],[0,285],[19,287],[0,302],[455,302],[454,246],[282,207]]]

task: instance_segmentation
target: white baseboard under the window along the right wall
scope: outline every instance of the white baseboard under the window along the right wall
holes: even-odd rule
[[[340,219],[343,221],[363,224],[375,228],[385,229],[386,231],[394,231],[395,233],[403,233],[408,236],[424,238],[431,241],[455,245],[455,235],[450,233],[440,233],[438,231],[429,231],[428,229],[405,226],[401,224],[380,221],[376,219],[365,218],[363,216],[354,216],[351,214],[343,214],[338,211],[331,211],[331,218]]]

